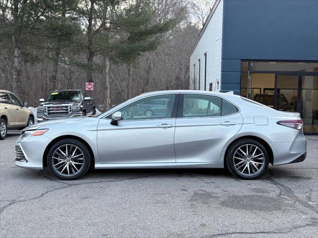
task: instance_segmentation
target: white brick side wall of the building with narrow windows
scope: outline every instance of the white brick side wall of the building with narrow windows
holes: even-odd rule
[[[223,26],[223,0],[215,9],[201,39],[190,57],[190,89],[199,89],[199,59],[201,64],[200,90],[204,90],[204,54],[207,54],[207,81],[206,90],[212,83],[212,91],[219,91],[216,82],[221,85],[221,56],[222,56],[222,26]],[[195,73],[194,67],[195,64]],[[194,77],[195,76],[195,77]]]

